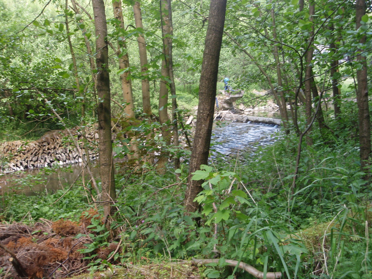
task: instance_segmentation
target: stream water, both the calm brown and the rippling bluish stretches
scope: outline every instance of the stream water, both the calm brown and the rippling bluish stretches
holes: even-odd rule
[[[275,140],[276,132],[279,127],[270,124],[241,123],[241,122],[218,122],[212,134],[211,159],[219,158],[239,158],[240,154],[253,154],[257,145],[272,144]],[[96,166],[92,166],[93,173],[97,174]],[[17,171],[16,173],[0,176],[0,195],[6,193],[23,193],[34,195],[37,192],[46,190],[54,192],[63,189],[74,183],[83,171],[82,165],[72,164],[65,167],[57,167],[55,170],[32,169]],[[88,176],[86,176],[88,179]]]

